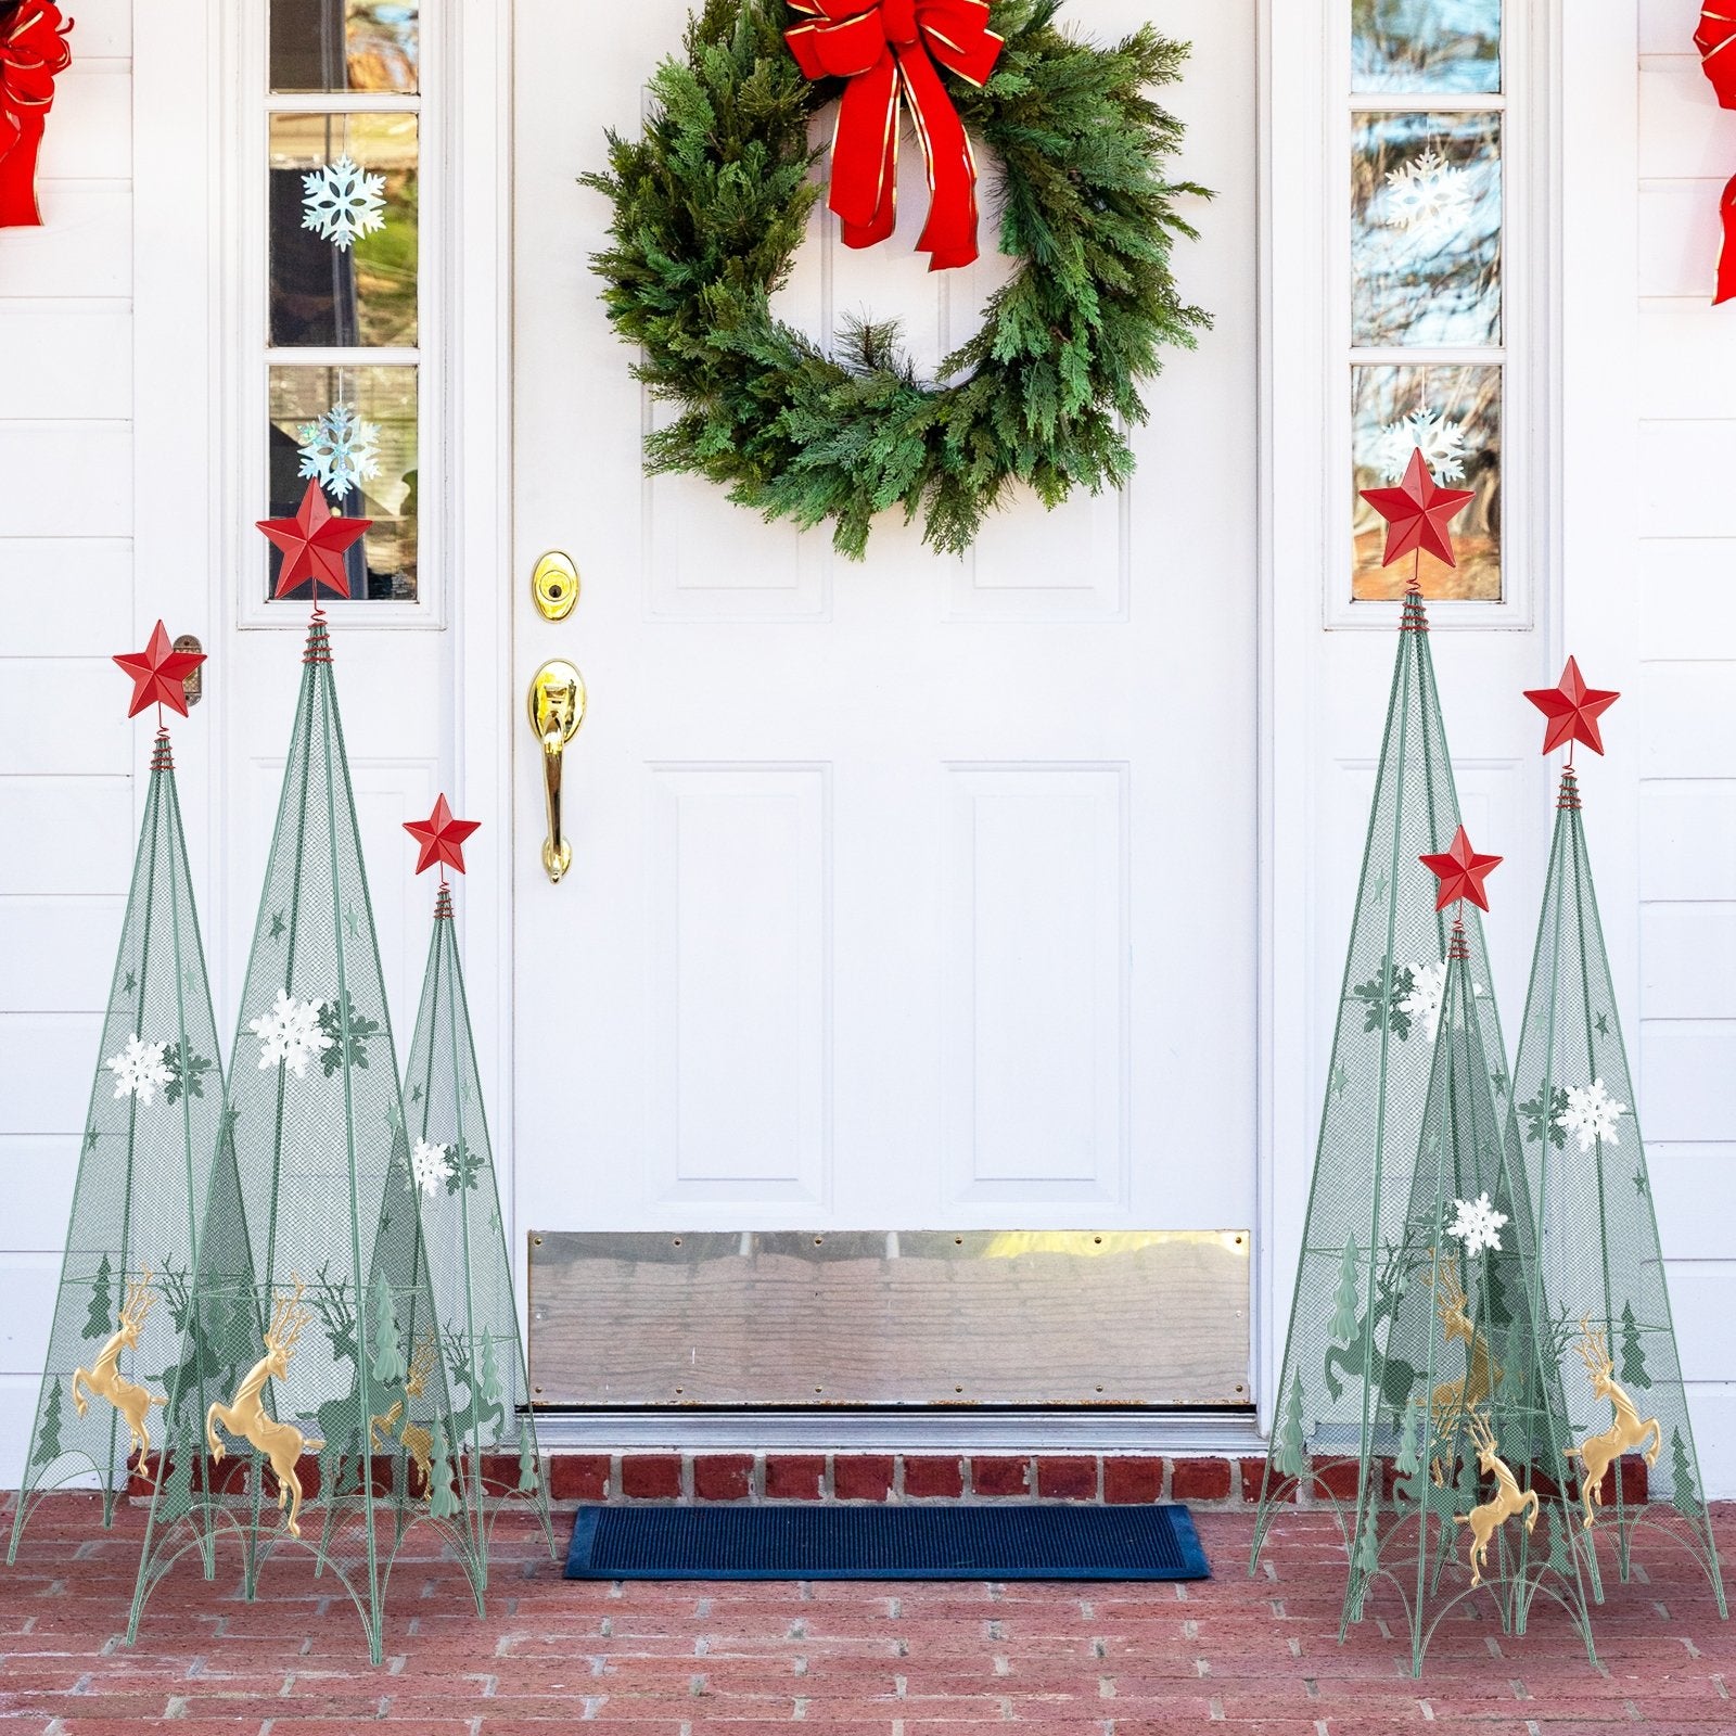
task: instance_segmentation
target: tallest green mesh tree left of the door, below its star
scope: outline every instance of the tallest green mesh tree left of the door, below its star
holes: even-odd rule
[[[198,1401],[170,1382],[134,1634],[175,1559],[226,1529],[248,1597],[271,1554],[311,1550],[375,1661],[417,1519],[446,1531],[481,1609],[476,1535],[448,1516],[464,1467],[434,1453],[457,1429],[444,1359],[427,1354],[441,1316],[418,1201],[316,609],[193,1274],[181,1364],[200,1371]]]

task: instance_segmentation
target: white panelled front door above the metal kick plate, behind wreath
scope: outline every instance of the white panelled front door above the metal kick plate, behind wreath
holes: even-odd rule
[[[1144,0],[1073,9],[1099,40]],[[1257,477],[1252,0],[1174,0],[1182,245],[1217,325],[1151,384],[1125,498],[1024,502],[943,559],[868,559],[646,481],[649,410],[576,184],[634,130],[687,0],[516,7],[517,1220],[545,1229],[1245,1227],[1255,1217]],[[915,153],[906,153],[915,155]],[[852,255],[786,316],[899,312],[929,363],[993,264]],[[566,550],[576,611],[531,571]],[[524,694],[589,684],[571,873],[542,863]]]

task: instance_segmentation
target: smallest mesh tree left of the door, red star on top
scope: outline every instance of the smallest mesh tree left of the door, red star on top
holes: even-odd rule
[[[422,1189],[422,1234],[434,1272],[446,1373],[453,1397],[464,1394],[451,1418],[451,1451],[465,1467],[467,1522],[484,1550],[502,1505],[523,1500],[542,1519],[550,1552],[556,1552],[446,884],[446,868],[464,873],[464,840],[476,832],[476,821],[455,819],[443,795],[425,821],[411,821],[406,830],[420,845],[417,873],[436,865],[441,870],[404,1075],[404,1109],[413,1142],[411,1170]]]

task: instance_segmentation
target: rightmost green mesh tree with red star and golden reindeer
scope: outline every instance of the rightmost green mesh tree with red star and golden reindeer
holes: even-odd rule
[[[1569,658],[1557,687],[1526,698],[1549,719],[1543,752],[1568,748],[1514,1066],[1543,1290],[1557,1311],[1557,1335],[1571,1338],[1562,1380],[1575,1432],[1564,1469],[1580,1496],[1576,1521],[1587,1543],[1613,1533],[1623,1580],[1635,1528],[1661,1528],[1706,1569],[1722,1614],[1717,1545],[1573,769],[1576,745],[1602,753],[1597,719],[1618,694],[1587,687]],[[1644,1479],[1621,1474],[1630,1455],[1644,1458]]]

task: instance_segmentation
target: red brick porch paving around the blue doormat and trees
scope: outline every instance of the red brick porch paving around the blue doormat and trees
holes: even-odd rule
[[[1736,1509],[1719,1512],[1736,1549]],[[373,1668],[349,1599],[304,1555],[234,1594],[234,1555],[207,1585],[182,1561],[139,1644],[120,1635],[142,1510],[97,1528],[56,1496],[19,1564],[0,1568],[0,1736],[917,1736],[1017,1724],[1059,1736],[1712,1736],[1736,1731],[1736,1628],[1667,1542],[1608,1585],[1601,1665],[1566,1620],[1503,1637],[1488,1606],[1439,1628],[1422,1680],[1378,1592],[1337,1639],[1344,1555],[1326,1514],[1279,1514],[1246,1575],[1252,1516],[1200,1512],[1217,1568],[1200,1585],[587,1585],[566,1583],[521,1517],[496,1531],[477,1618],[437,1536],[411,1533]],[[9,1526],[0,1503],[0,1524]],[[420,1552],[418,1552],[420,1549]],[[1463,1606],[1462,1606],[1463,1608]]]

